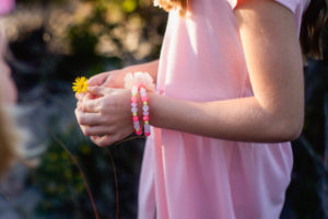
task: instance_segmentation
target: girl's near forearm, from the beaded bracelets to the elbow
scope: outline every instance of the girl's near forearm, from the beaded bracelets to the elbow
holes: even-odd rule
[[[208,103],[174,100],[156,94],[150,94],[149,99],[151,125],[207,137],[282,142],[296,138],[302,127],[297,123],[298,118],[290,118],[292,113],[269,112],[256,97]]]

